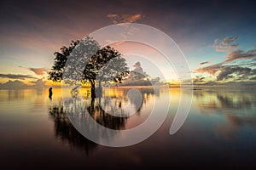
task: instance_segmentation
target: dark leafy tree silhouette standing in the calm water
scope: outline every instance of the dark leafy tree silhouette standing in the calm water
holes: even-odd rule
[[[101,48],[91,37],[72,42],[55,52],[55,62],[49,71],[49,80],[69,84],[90,83],[91,97],[96,97],[96,82],[122,82],[129,74],[125,59],[119,51],[106,46]]]

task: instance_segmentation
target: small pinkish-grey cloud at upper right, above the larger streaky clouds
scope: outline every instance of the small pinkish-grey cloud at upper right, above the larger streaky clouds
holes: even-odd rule
[[[214,40],[212,48],[215,48],[218,52],[229,52],[232,49],[238,48],[238,43],[235,43],[238,37],[230,36],[224,37],[224,39],[219,40],[218,38]]]

